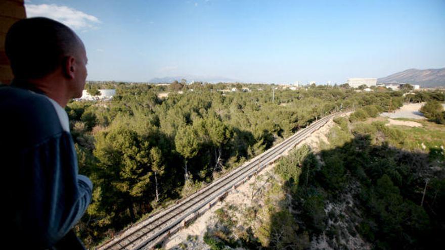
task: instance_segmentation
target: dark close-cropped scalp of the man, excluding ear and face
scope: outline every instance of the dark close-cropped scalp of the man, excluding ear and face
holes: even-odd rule
[[[12,25],[5,52],[15,79],[39,79],[63,65],[83,47],[66,25],[43,17],[22,19]]]

